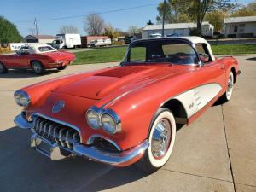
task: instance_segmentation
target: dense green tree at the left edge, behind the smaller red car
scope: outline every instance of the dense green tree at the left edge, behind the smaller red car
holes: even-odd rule
[[[0,16],[0,43],[20,42],[21,38],[17,27]]]

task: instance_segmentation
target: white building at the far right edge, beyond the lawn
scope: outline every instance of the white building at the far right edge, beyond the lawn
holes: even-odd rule
[[[226,38],[256,37],[256,16],[224,18]]]

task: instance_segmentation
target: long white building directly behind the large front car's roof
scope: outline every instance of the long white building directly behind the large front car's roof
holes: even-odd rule
[[[178,36],[189,36],[190,29],[195,29],[195,23],[172,23],[165,24],[165,35],[177,34]],[[202,22],[201,33],[205,37],[212,37],[214,26],[208,21]],[[151,34],[162,33],[162,25],[148,25],[143,28],[143,38],[149,38]]]

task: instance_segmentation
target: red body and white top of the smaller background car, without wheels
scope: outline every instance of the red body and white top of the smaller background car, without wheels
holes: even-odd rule
[[[38,47],[49,47],[51,51],[40,52]],[[23,51],[26,49],[26,52]],[[22,52],[23,51],[23,52]],[[0,55],[0,62],[7,68],[30,68],[33,61],[40,62],[44,69],[65,67],[75,59],[75,55],[69,52],[57,51],[44,44],[27,45],[21,47],[16,54]]]

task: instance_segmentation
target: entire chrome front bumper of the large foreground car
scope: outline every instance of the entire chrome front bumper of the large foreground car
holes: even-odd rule
[[[34,127],[33,122],[27,122],[21,114],[15,117],[15,124],[22,129],[33,129]],[[60,146],[58,143],[50,142],[44,137],[39,136],[37,133],[34,133],[31,138],[31,147],[35,148],[41,154],[46,155],[51,160],[61,160],[67,156],[77,155],[111,166],[129,166],[143,156],[144,152],[149,147],[149,143],[144,141],[134,148],[110,153],[103,152],[93,145],[84,145],[82,143],[74,144],[72,149],[63,148],[63,146]],[[63,152],[69,155],[66,156]]]

